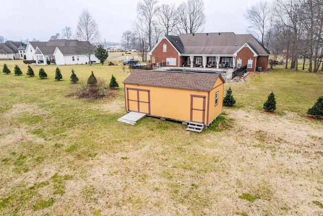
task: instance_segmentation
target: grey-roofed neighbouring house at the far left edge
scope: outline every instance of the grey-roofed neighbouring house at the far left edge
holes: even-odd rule
[[[23,42],[7,40],[0,44],[0,60],[24,59],[25,44]]]

